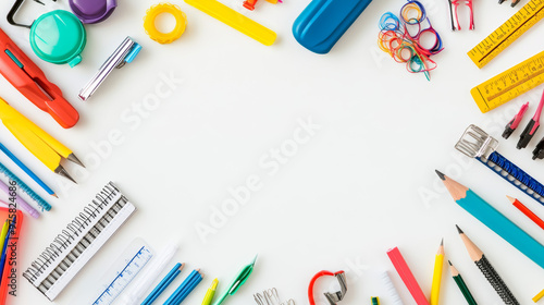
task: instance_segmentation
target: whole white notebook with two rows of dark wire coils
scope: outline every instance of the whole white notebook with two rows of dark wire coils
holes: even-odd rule
[[[135,210],[118,187],[108,183],[23,276],[53,301]]]

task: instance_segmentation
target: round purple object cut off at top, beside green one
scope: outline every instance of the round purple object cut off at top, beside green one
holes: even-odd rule
[[[87,24],[107,20],[116,7],[116,0],[70,0],[72,12]]]

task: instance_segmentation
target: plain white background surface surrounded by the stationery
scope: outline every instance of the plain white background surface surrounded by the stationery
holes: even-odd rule
[[[8,12],[11,2],[2,1],[1,11]],[[467,30],[468,10],[461,7],[463,30],[452,33],[447,1],[424,1],[445,45],[434,58],[438,68],[428,82],[422,74],[409,74],[376,47],[380,16],[386,11],[398,12],[404,1],[371,3],[326,56],[304,49],[292,35],[293,22],[309,1],[260,2],[255,12],[244,13],[277,33],[272,47],[181,1],[176,4],[187,14],[187,29],[175,42],[159,45],[143,29],[145,12],[156,2],[120,0],[109,20],[86,26],[88,44],[82,64],[74,69],[38,60],[29,48],[28,30],[1,19],[0,26],[62,88],[82,119],[74,129],[61,129],[3,78],[0,95],[88,166],[87,171],[66,166],[78,181],[72,185],[49,172],[0,127],[2,143],[60,195],[60,199],[48,198],[53,209],[39,220],[25,219],[17,296],[9,303],[49,303],[21,272],[104,183],[114,181],[138,211],[63,291],[57,304],[87,304],[89,300],[81,297],[82,293],[96,289],[106,268],[137,236],[156,251],[169,240],[178,241],[181,251],[175,260],[187,263],[183,277],[193,268],[206,273],[187,304],[200,304],[214,278],[220,280],[219,290],[224,289],[256,254],[255,273],[227,304],[254,304],[254,293],[272,286],[283,298],[307,304],[308,283],[322,269],[347,270],[349,291],[341,304],[370,304],[372,295],[391,304],[379,273],[393,271],[385,254],[393,246],[400,248],[429,296],[442,237],[446,258],[462,273],[478,303],[502,304],[470,261],[456,223],[486,253],[518,300],[531,304],[531,297],[544,289],[544,271],[458,207],[441,186],[434,169],[471,186],[544,242],[541,229],[505,195],[519,197],[544,217],[542,207],[454,149],[471,123],[500,138],[504,125],[522,102],[531,101],[522,127],[533,115],[542,87],[486,114],[479,111],[469,90],[542,51],[543,25],[534,26],[479,70],[467,51],[517,9],[496,1],[474,1],[477,30]],[[518,9],[526,2],[522,0]],[[232,0],[228,4],[240,3]],[[18,19],[30,21],[38,12],[57,7],[67,4],[47,1],[44,8],[27,1]],[[127,35],[144,47],[139,57],[115,71],[89,101],[79,101],[79,89]],[[183,84],[160,99],[154,110],[146,110],[138,125],[122,120],[123,113],[134,118],[134,107],[154,94],[161,75],[170,74]],[[270,174],[270,168],[260,166],[261,158],[270,158],[271,149],[292,139],[298,121],[308,118],[321,129]],[[102,144],[104,149],[103,142],[114,130],[123,134],[123,143],[102,150],[97,162],[94,147]],[[518,151],[515,146],[520,132],[508,141],[500,139],[500,151],[542,181],[544,163],[532,161],[531,150],[544,133],[537,134],[529,149]],[[0,156],[0,161],[47,196],[5,156]],[[212,207],[220,208],[232,197],[228,188],[244,185],[250,175],[259,176],[262,187],[251,193],[250,200],[228,217],[217,234],[202,242],[196,224],[209,223]],[[391,274],[405,304],[415,304],[398,276]],[[175,285],[180,282],[177,279]],[[174,285],[161,301],[173,290]],[[441,304],[463,303],[445,268]]]

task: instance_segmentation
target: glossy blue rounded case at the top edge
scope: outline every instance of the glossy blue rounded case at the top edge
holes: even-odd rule
[[[313,0],[297,17],[293,35],[302,47],[327,53],[372,0]]]

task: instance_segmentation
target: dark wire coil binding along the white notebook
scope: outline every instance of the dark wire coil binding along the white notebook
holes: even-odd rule
[[[33,283],[41,293],[46,292],[55,281],[70,269],[71,265],[85,252],[85,249],[96,240],[101,231],[115,218],[119,211],[128,203],[126,197],[121,195],[119,200],[112,202],[119,194],[119,190],[113,183],[107,184],[89,205],[87,205],[78,216],[70,222],[64,230],[46,249],[30,264],[30,267],[23,272],[23,276]],[[96,218],[98,222],[88,228]],[[88,231],[87,233],[85,233]],[[85,233],[85,235],[83,235]],[[74,242],[77,244],[70,247]],[[70,251],[70,252],[69,252]],[[67,252],[67,253],[66,253]],[[58,266],[45,278],[36,283],[38,278],[55,263],[57,258],[62,258]]]

